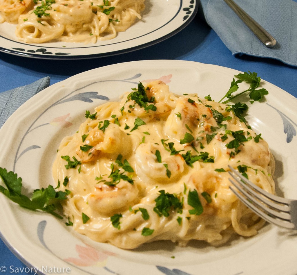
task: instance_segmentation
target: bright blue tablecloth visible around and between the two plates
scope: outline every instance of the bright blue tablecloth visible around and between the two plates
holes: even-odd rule
[[[189,60],[215,64],[239,71],[257,72],[258,76],[297,97],[297,68],[277,60],[251,56],[235,57],[204,21],[200,12],[176,35],[153,46],[111,57],[90,60],[38,60],[0,53],[1,92],[50,76],[50,84],[93,68],[136,60]],[[1,197],[0,199],[3,199]],[[1,272],[2,267],[5,272]],[[34,274],[0,240],[0,274]],[[22,271],[23,270],[23,271]],[[18,272],[15,272],[18,271]]]

